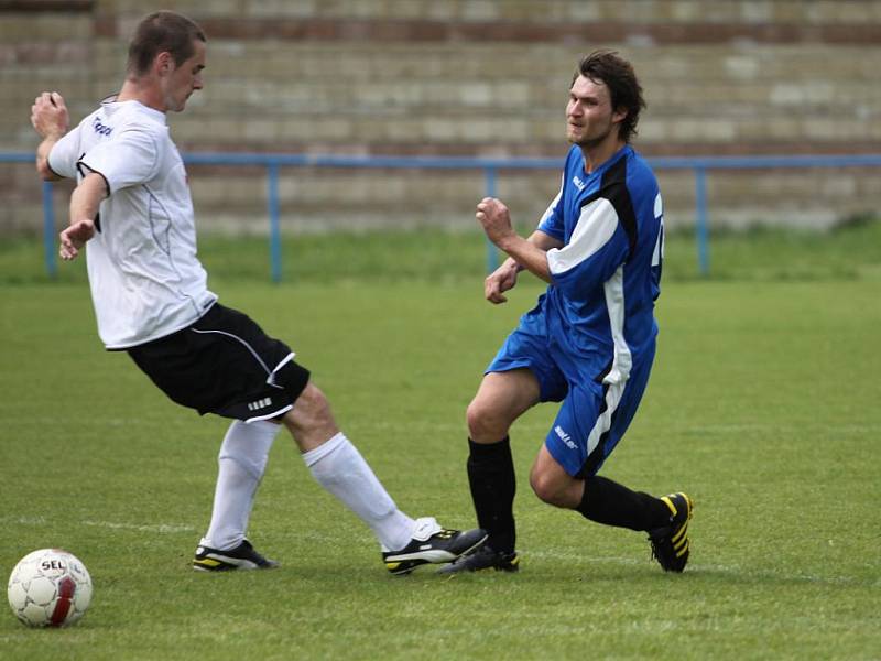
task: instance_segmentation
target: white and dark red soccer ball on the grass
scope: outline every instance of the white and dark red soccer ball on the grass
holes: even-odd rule
[[[19,561],[9,576],[9,605],[29,627],[66,627],[91,602],[91,577],[73,553],[40,549]]]

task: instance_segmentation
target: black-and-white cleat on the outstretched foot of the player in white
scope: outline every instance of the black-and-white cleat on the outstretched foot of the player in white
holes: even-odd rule
[[[453,562],[471,553],[487,540],[486,531],[447,530],[433,518],[416,519],[416,530],[410,543],[398,551],[382,550],[382,561],[392,574],[410,574],[422,564]]]

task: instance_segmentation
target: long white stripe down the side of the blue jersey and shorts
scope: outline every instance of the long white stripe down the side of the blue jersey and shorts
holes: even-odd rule
[[[609,373],[602,379],[608,386],[606,391],[606,410],[597,419],[594,429],[587,437],[587,454],[596,449],[602,434],[612,426],[612,415],[621,403],[624,387],[630,378],[630,368],[633,366],[633,356],[624,340],[624,267],[618,267],[614,274],[603,284],[606,291],[606,307],[609,312],[609,329],[614,343],[614,358]]]

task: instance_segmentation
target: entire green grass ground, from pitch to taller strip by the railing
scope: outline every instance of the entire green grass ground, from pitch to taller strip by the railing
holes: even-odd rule
[[[39,246],[10,242],[0,575],[63,546],[95,598],[64,630],[7,610],[0,659],[878,659],[878,237],[875,224],[720,240],[711,280],[694,277],[687,237],[668,245],[653,378],[603,474],[695,498],[685,574],[662,573],[642,535],[531,494],[544,405],[512,434],[522,571],[453,579],[387,575],[367,529],[283,436],[250,531],[283,567],[192,572],[227,423],[176,408],[101,349],[81,264],[46,283]],[[222,301],[313,369],[402,509],[470,527],[465,407],[541,290],[524,279],[508,305],[486,304],[474,236],[333,241],[286,247],[282,285],[262,280],[255,241],[203,251]]]

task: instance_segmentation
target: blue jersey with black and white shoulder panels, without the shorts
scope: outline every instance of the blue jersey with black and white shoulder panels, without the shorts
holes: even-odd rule
[[[630,145],[586,174],[574,145],[539,229],[563,243],[547,251],[553,283],[542,306],[548,330],[596,361],[597,380],[627,380],[633,359],[653,353],[657,335],[663,206],[654,174]]]

